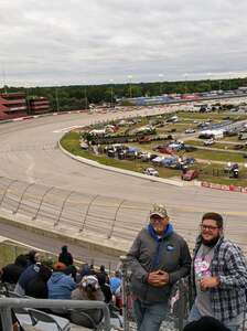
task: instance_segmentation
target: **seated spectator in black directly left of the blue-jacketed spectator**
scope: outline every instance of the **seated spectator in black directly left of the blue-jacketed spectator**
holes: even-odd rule
[[[28,282],[25,295],[36,299],[47,299],[49,288],[47,281],[52,276],[52,270],[44,266],[40,266],[40,271]]]

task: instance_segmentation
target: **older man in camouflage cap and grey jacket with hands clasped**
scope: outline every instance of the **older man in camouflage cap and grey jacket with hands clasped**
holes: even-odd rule
[[[149,225],[138,234],[127,257],[138,331],[158,331],[168,312],[172,285],[186,276],[191,266],[187,244],[173,231],[163,205],[153,205]]]

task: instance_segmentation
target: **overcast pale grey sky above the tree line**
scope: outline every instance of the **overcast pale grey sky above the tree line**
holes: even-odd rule
[[[245,76],[246,0],[0,0],[0,86]]]

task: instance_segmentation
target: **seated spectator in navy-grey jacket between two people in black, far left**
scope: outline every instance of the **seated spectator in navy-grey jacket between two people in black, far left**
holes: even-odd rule
[[[36,250],[31,250],[28,255],[30,265],[21,274],[14,288],[14,291],[21,296],[25,295],[26,285],[37,275],[41,266],[40,254]]]

